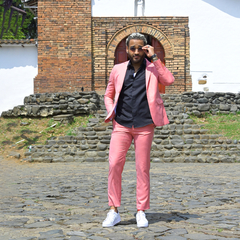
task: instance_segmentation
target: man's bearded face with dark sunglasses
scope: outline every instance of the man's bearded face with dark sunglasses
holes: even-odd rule
[[[129,46],[127,46],[127,54],[132,64],[140,64],[145,58],[145,53],[142,50],[144,46],[143,40],[131,39],[129,41]]]

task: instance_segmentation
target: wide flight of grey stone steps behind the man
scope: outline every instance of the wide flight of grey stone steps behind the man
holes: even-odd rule
[[[180,97],[171,94],[163,98],[170,124],[155,128],[153,162],[240,162],[240,141],[223,140],[221,135],[202,129],[204,125],[195,124],[186,113],[188,107],[195,109],[194,103],[180,103]],[[46,145],[33,146],[32,151],[25,154],[27,159],[39,162],[108,161],[112,123],[104,123],[107,111],[102,97],[100,106],[86,128],[74,129],[75,136],[60,136],[48,140]],[[132,144],[127,161],[134,160]]]

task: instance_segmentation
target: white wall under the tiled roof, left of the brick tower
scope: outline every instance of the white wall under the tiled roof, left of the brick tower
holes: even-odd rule
[[[0,114],[22,105],[24,97],[33,94],[33,78],[37,72],[36,46],[0,48]]]

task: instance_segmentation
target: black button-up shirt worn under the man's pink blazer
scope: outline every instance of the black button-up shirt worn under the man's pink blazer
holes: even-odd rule
[[[129,61],[115,117],[116,122],[125,127],[139,128],[153,123],[146,95],[145,72],[145,59],[136,74]]]

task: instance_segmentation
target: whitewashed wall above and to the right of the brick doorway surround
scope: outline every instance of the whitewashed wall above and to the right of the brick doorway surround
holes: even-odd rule
[[[132,17],[134,2],[93,0],[92,15]],[[239,0],[145,0],[145,16],[189,17],[193,91],[240,92]]]

